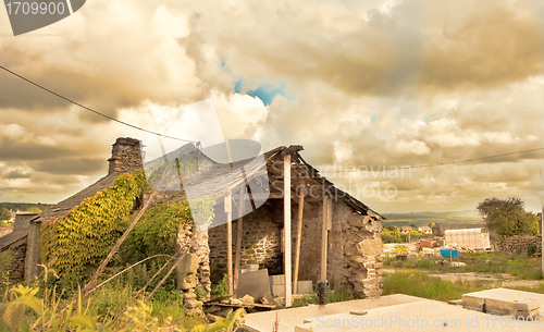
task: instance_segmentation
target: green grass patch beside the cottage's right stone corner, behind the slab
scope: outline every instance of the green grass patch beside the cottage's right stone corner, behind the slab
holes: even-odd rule
[[[463,281],[448,282],[429,273],[411,269],[396,271],[385,278],[383,295],[406,294],[429,299],[448,302],[462,294],[485,290],[484,283]]]

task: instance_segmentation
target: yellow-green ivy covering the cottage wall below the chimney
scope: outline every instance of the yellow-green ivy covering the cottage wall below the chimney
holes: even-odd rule
[[[41,262],[62,279],[85,278],[87,267],[97,267],[126,229],[133,202],[146,188],[143,170],[120,175],[66,217],[42,224]]]

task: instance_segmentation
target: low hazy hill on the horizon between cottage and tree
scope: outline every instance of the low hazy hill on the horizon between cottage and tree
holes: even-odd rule
[[[431,222],[473,222],[480,221],[474,211],[445,211],[445,212],[409,212],[409,213],[382,213],[386,218],[383,225],[408,226],[415,224],[417,226],[425,226]]]

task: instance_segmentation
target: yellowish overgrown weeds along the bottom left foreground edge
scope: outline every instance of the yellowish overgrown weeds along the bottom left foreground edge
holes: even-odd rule
[[[110,288],[108,292],[118,296],[113,303],[123,300],[126,295],[120,293],[125,290]],[[158,305],[164,302],[144,304],[138,300],[128,307],[120,320],[113,322],[108,316],[98,313],[100,304],[97,304],[97,298],[100,299],[101,295],[88,302],[78,300],[75,307],[60,315],[64,303],[58,297],[54,288],[41,292],[37,287],[15,286],[5,293],[0,303],[0,331],[160,331],[163,328],[193,332],[234,331],[243,321],[244,315],[243,309],[239,309],[226,319],[206,325],[202,324],[203,320],[196,316],[184,316],[180,319],[180,312],[183,313],[180,304],[174,308]],[[175,313],[177,317],[168,316],[169,313]]]

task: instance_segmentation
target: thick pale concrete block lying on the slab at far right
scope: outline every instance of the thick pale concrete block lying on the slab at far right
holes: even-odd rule
[[[491,315],[536,317],[544,310],[544,294],[494,288],[462,295],[462,307]]]

